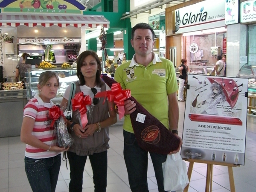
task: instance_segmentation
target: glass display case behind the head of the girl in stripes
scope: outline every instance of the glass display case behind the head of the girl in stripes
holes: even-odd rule
[[[49,69],[48,69],[49,70]],[[67,86],[70,84],[70,82],[78,81],[79,79],[76,76],[76,68],[53,68],[50,69],[51,71],[54,71],[57,73],[60,81],[60,87],[58,89],[57,95],[55,99],[53,99],[53,102],[60,102],[64,92],[67,88]],[[35,94],[38,93],[38,78],[41,73],[43,73],[46,70],[43,69],[30,69],[28,73],[26,73],[26,90],[27,90],[27,97],[29,99],[32,99]]]

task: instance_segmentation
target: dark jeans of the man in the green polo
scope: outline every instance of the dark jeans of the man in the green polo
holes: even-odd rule
[[[124,131],[124,158],[132,192],[148,192],[148,151],[143,150],[137,143],[135,135]],[[165,192],[163,187],[162,163],[167,155],[150,153],[157,179],[159,192]]]

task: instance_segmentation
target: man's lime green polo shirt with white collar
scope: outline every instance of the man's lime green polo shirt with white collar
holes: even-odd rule
[[[123,89],[131,90],[131,96],[169,128],[167,94],[175,93],[178,89],[172,61],[154,55],[153,61],[145,67],[137,64],[133,57],[116,69],[115,80]],[[125,115],[123,129],[134,133],[130,115]]]

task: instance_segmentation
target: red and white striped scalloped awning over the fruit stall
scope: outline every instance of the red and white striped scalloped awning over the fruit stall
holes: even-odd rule
[[[53,25],[59,27],[66,26],[88,26],[90,28],[95,28],[97,26],[104,26],[109,28],[109,20],[103,16],[98,15],[4,15],[0,14],[0,26],[9,25],[12,27],[17,27],[20,25],[25,25],[29,27],[41,25],[44,27],[50,27]]]

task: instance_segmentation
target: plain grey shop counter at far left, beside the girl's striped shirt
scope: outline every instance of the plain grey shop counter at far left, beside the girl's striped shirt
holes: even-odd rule
[[[26,90],[0,91],[0,137],[20,136]]]

